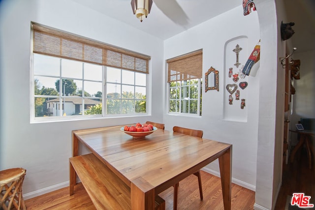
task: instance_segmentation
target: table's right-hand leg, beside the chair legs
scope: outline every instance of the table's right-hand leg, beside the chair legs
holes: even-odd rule
[[[224,210],[231,210],[232,146],[219,157]]]

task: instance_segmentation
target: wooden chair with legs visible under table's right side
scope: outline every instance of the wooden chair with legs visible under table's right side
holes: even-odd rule
[[[189,136],[195,136],[195,137],[199,137],[199,138],[202,138],[202,135],[203,135],[203,131],[202,130],[189,129],[189,128],[179,127],[179,126],[174,126],[173,127],[173,132],[183,133],[183,134],[186,134],[186,135],[189,135]],[[193,173],[193,175],[198,177],[200,200],[203,200],[200,170],[198,170],[197,172]],[[174,210],[177,210],[178,186],[179,186],[179,183],[176,183],[174,185],[174,204],[173,204],[173,209]]]

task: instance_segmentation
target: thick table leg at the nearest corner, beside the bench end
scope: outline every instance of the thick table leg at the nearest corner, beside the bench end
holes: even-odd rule
[[[155,188],[142,178],[131,182],[131,209],[132,210],[154,210]]]

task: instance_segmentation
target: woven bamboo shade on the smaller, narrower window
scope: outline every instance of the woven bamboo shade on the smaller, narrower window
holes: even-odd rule
[[[167,82],[202,78],[202,50],[166,60]]]

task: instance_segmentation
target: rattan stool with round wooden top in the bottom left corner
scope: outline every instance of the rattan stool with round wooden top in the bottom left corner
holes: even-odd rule
[[[22,195],[23,180],[26,170],[12,168],[0,171],[0,209],[26,210]]]

